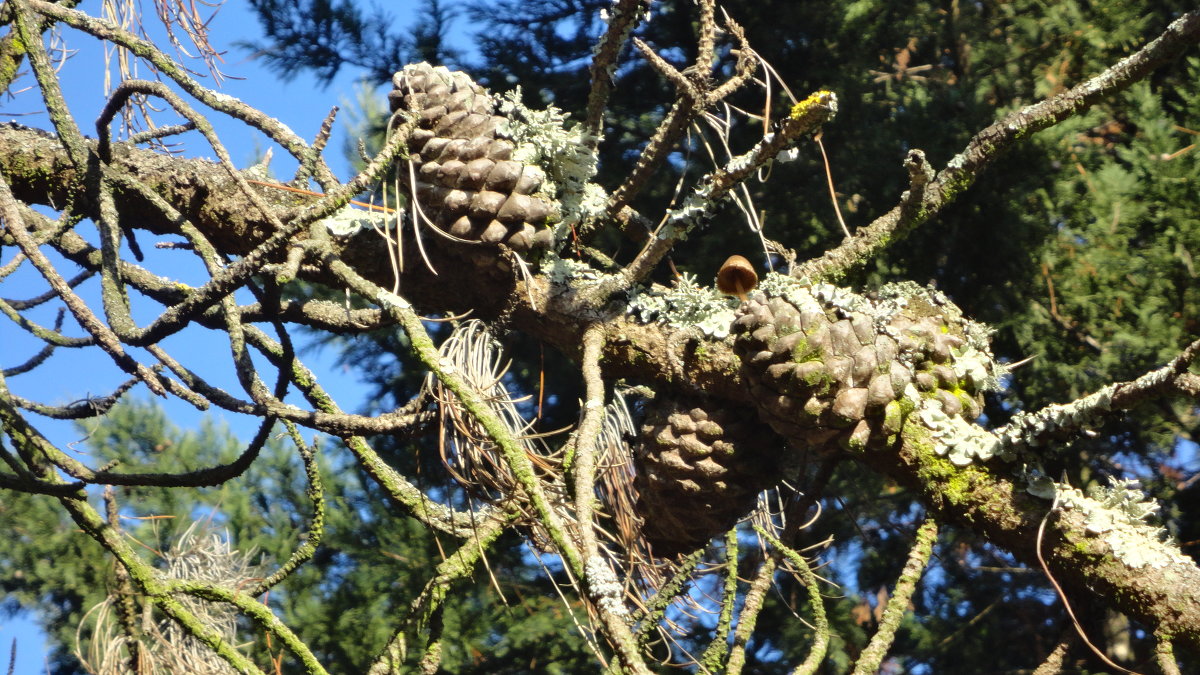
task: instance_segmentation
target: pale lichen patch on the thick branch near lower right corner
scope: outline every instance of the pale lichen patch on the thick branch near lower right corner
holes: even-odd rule
[[[1082,513],[1087,533],[1098,536],[1112,550],[1112,557],[1124,565],[1162,568],[1189,560],[1165,528],[1147,522],[1159,504],[1138,489],[1136,480],[1110,478],[1109,485],[1093,485],[1085,495],[1079,488],[1054,482],[1048,485],[1039,478],[1031,480],[1026,490]]]

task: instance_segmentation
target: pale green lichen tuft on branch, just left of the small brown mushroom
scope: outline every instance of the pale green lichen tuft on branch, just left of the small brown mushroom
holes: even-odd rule
[[[718,340],[730,334],[737,306],[736,298],[721,295],[710,286],[701,286],[695,276],[686,273],[671,288],[637,288],[629,299],[629,312],[643,323],[696,328]]]

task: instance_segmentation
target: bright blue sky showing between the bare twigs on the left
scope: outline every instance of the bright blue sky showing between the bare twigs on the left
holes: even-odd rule
[[[96,11],[97,4],[84,4],[85,11]],[[143,2],[144,11],[152,12],[150,2]],[[412,25],[415,20],[416,2],[395,1],[388,4],[389,10],[396,18],[398,26]],[[150,24],[155,19],[146,18]],[[458,26],[460,30],[462,25]],[[94,135],[94,120],[104,104],[104,78],[103,55],[100,44],[91,37],[65,31],[67,46],[78,52],[67,61],[61,71],[64,91],[71,103],[72,110],[85,133]],[[341,72],[329,86],[322,88],[308,76],[300,76],[292,82],[282,82],[274,73],[268,72],[259,61],[250,58],[248,53],[236,49],[233,44],[238,41],[254,40],[259,37],[257,19],[244,2],[228,2],[221,7],[210,24],[210,40],[218,50],[224,50],[224,64],[222,71],[230,78],[226,79],[220,90],[230,96],[238,97],[246,103],[275,117],[287,124],[301,137],[312,139],[320,127],[322,120],[334,104],[338,104],[343,110],[348,102],[353,101],[356,91],[356,73]],[[193,70],[203,71],[203,67]],[[143,71],[143,74],[148,74]],[[241,79],[234,79],[241,78]],[[203,80],[211,86],[210,79]],[[31,76],[26,76],[20,84],[32,85]],[[378,83],[380,95],[390,83]],[[19,86],[18,86],[19,89]],[[194,103],[190,101],[190,103]],[[0,120],[14,120],[29,126],[47,127],[48,121],[41,110],[41,98],[36,90],[26,91],[14,98],[0,100]],[[202,110],[202,113],[205,110]],[[248,166],[253,157],[266,144],[260,133],[251,127],[220,115],[209,115],[209,120],[215,124],[222,142],[229,150],[233,161],[241,166]],[[335,173],[343,181],[353,174],[349,163],[342,157],[344,147],[346,127],[343,124],[336,125],[334,138],[329,144],[328,161]],[[211,157],[212,151],[203,143],[198,135],[187,137],[186,154],[190,156]],[[289,161],[282,150],[275,151],[276,161],[272,169],[276,175],[289,175],[294,169],[294,162]],[[163,274],[166,265],[172,270],[174,277],[193,283],[202,280],[202,271],[192,262],[194,259],[188,253],[156,251],[154,244],[156,238],[143,234],[139,238],[143,250],[148,256],[148,264],[156,268],[155,271]],[[0,251],[0,264],[12,258],[11,249]],[[173,267],[178,265],[178,267]],[[46,289],[44,283],[36,273],[25,265],[12,276],[0,281],[0,297],[5,298],[30,298]],[[72,270],[73,265],[64,269]],[[70,271],[68,271],[70,274]],[[88,282],[79,289],[80,294],[98,306],[98,283],[95,280]],[[140,322],[149,321],[152,315],[149,311],[138,312],[134,307],[134,317]],[[47,307],[34,317],[53,323],[53,310]],[[78,327],[67,322],[66,333],[80,335]],[[0,323],[0,368],[11,368],[23,363],[35,354],[41,344],[32,340],[26,333],[17,328],[8,321]],[[184,334],[166,342],[168,352],[187,362],[217,364],[217,370],[208,371],[212,375],[212,382],[233,393],[240,393],[240,387],[233,377],[229,365],[228,341],[222,334],[206,331],[203,329],[188,329]],[[320,380],[322,384],[329,389],[343,408],[354,410],[362,405],[362,389],[359,380],[346,370],[332,365],[332,354],[306,354],[305,360]],[[143,363],[154,363],[148,356],[142,356]],[[216,375],[214,375],[216,374]],[[8,386],[19,395],[36,401],[64,405],[88,395],[104,395],[126,376],[119,372],[106,358],[95,350],[58,350],[55,354],[37,369],[35,372],[13,377]],[[136,396],[149,396],[144,387],[133,390]],[[199,422],[202,414],[188,405],[178,400],[162,400],[172,420],[181,428],[193,428]],[[221,411],[211,413],[214,418],[229,424],[235,432],[246,437],[247,430],[252,429],[252,420],[232,416]],[[55,423],[54,420],[34,419],[34,423],[50,437],[59,447],[67,447],[70,443],[79,441],[80,434],[73,424]],[[95,424],[95,422],[90,422]],[[84,461],[89,458],[82,456]],[[10,647],[13,639],[17,640],[17,664],[14,673],[31,674],[44,673],[46,645],[43,634],[37,628],[30,616],[23,615],[11,620],[0,620],[0,669],[7,669]]]

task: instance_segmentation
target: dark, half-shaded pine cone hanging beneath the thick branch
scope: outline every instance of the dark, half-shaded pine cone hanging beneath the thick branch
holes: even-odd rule
[[[751,411],[655,399],[634,448],[637,514],[656,556],[733,527],[780,479],[782,440]]]

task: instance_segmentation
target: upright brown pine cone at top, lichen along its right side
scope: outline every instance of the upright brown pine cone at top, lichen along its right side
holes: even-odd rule
[[[391,109],[419,123],[408,138],[410,190],[426,216],[460,239],[526,251],[548,246],[558,207],[542,195],[546,175],[512,159],[486,89],[444,66],[415,64],[392,76]],[[402,183],[408,167],[401,166]]]

